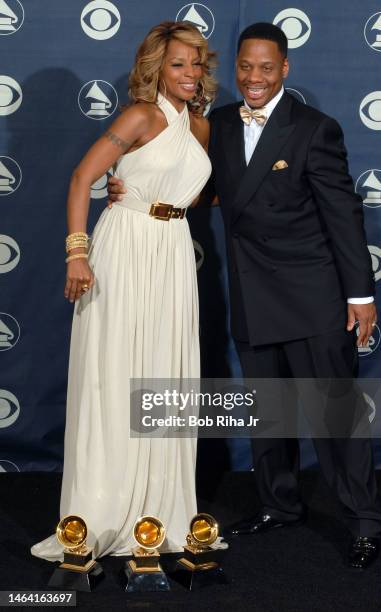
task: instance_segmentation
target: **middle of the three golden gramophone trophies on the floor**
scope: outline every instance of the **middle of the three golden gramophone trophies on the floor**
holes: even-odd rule
[[[126,562],[126,591],[169,591],[167,576],[159,563],[158,548],[165,538],[163,523],[155,516],[142,516],[134,526],[134,538],[138,546],[133,549],[133,559]]]

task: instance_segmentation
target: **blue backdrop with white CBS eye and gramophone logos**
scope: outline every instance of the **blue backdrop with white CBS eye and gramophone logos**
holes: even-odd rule
[[[0,471],[61,468],[72,315],[63,298],[67,186],[88,146],[127,101],[138,43],[167,19],[193,21],[218,51],[216,106],[237,98],[239,31],[255,21],[282,27],[290,45],[287,87],[344,129],[381,279],[379,2],[0,0]],[[92,189],[90,229],[105,205],[106,180]],[[194,210],[190,222],[203,374],[239,374],[227,328],[219,210]],[[381,376],[379,345],[376,327],[360,353],[362,376]],[[224,450],[233,468],[250,468],[245,441],[230,440]],[[303,463],[315,463],[307,442]]]

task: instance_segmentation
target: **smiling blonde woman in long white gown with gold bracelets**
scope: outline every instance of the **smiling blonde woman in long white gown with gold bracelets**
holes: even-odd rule
[[[128,554],[144,514],[163,521],[167,549],[179,550],[197,511],[196,439],[130,437],[129,379],[200,373],[195,256],[182,209],[211,171],[202,110],[214,96],[212,60],[191,24],[153,28],[130,76],[135,104],[91,147],[71,181],[71,236],[86,232],[90,187],[110,166],[127,188],[102,213],[88,259],[85,248],[70,250],[65,287],[78,301],[60,514],[84,518],[96,557]],[[175,207],[169,221],[149,214],[154,202]],[[55,561],[62,547],[52,535],[32,554]]]

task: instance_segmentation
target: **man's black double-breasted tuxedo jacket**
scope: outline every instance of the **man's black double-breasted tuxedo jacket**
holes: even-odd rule
[[[344,329],[347,298],[373,295],[374,280],[341,128],[284,93],[247,166],[241,104],[210,115],[232,335],[262,345]]]

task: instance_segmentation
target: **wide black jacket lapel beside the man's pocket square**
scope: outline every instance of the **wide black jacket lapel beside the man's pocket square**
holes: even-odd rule
[[[295,129],[295,124],[291,123],[292,103],[292,97],[284,93],[263,128],[234,198],[231,221],[239,216],[248,200],[253,197],[273,163],[278,159],[280,149]]]

